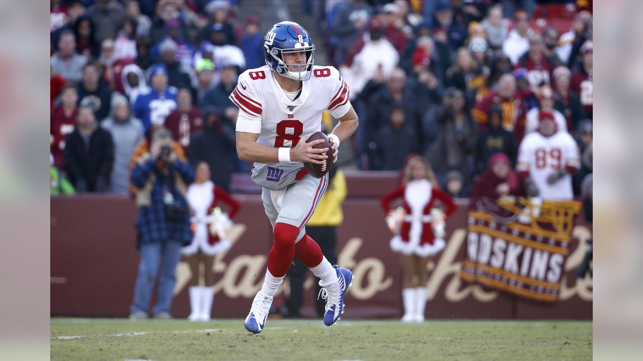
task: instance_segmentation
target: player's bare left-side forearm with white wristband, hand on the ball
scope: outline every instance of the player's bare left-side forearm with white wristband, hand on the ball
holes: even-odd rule
[[[315,149],[315,145],[323,143],[323,139],[317,139],[306,143],[305,139],[300,139],[293,148],[275,148],[261,143],[257,143],[258,133],[240,132],[237,130],[237,154],[243,161],[257,163],[278,163],[278,162],[302,162],[323,164],[323,159],[327,156],[328,148]],[[281,157],[280,157],[281,152]]]

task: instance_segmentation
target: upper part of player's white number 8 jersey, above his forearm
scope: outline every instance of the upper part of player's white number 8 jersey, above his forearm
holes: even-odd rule
[[[239,76],[230,94],[239,107],[237,132],[259,134],[258,143],[294,147],[321,129],[321,114],[329,109],[341,118],[350,109],[349,87],[332,66],[312,67],[301,92],[291,100],[277,83],[268,66],[249,69]]]

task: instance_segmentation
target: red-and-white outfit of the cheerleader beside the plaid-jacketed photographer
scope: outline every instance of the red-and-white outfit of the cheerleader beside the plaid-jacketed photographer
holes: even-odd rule
[[[181,249],[185,256],[192,256],[199,250],[206,256],[230,249],[230,242],[221,239],[216,234],[210,233],[210,223],[212,222],[212,212],[219,201],[230,206],[228,216],[233,218],[239,211],[240,204],[221,187],[217,187],[211,180],[201,184],[193,183],[188,187],[186,198],[190,208],[194,212],[192,216],[192,225],[194,229],[194,238],[192,243]]]

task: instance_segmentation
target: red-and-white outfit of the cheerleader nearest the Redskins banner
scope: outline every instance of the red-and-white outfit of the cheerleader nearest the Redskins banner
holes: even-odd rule
[[[391,249],[421,257],[433,256],[442,251],[446,243],[433,234],[431,208],[436,199],[440,200],[446,206],[444,216],[448,217],[456,209],[451,197],[442,189],[434,187],[428,179],[411,180],[381,198],[381,206],[386,213],[391,210],[391,202],[397,198],[403,198],[404,216],[399,234],[391,239]]]

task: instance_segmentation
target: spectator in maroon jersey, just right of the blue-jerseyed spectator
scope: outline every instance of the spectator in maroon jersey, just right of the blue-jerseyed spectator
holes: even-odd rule
[[[192,105],[192,93],[189,89],[180,89],[176,101],[179,107],[165,118],[165,127],[172,132],[172,138],[176,139],[187,153],[190,137],[203,127],[201,109]]]

